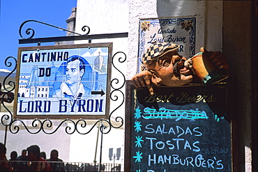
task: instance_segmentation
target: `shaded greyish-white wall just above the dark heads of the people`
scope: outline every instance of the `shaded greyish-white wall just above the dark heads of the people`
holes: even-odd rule
[[[6,113],[1,113],[4,115]],[[0,117],[1,117],[0,115]],[[23,120],[26,127],[28,127],[29,131],[32,133],[36,133],[37,129],[33,129],[31,126],[32,120]],[[56,124],[59,121],[53,121],[54,127],[52,129],[56,129]],[[10,159],[10,152],[16,151],[18,156],[22,154],[22,150],[26,150],[31,145],[38,145],[40,147],[40,152],[46,152],[47,159],[50,158],[51,150],[59,151],[59,158],[63,159],[64,162],[68,162],[69,160],[69,150],[70,150],[70,135],[66,134],[65,127],[66,124],[63,124],[59,130],[57,130],[54,134],[44,134],[43,131],[40,131],[38,134],[29,134],[28,131],[24,129],[24,125],[20,122],[15,122],[13,126],[20,127],[20,131],[17,134],[10,133],[9,129],[6,136],[6,157]],[[12,131],[16,131],[12,129]],[[51,132],[53,130],[45,129],[46,132]],[[0,124],[0,142],[4,143],[5,136],[5,127]]]

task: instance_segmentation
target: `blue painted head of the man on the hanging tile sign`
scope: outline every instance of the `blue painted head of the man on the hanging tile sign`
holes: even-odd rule
[[[84,69],[79,71],[79,59],[68,62],[66,66],[66,83],[73,85],[79,82],[84,74]]]

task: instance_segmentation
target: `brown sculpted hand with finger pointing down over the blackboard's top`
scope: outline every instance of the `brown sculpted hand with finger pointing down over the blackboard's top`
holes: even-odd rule
[[[156,80],[154,80],[155,76],[150,71],[142,71],[140,73],[137,73],[135,76],[131,78],[132,85],[135,87],[148,87],[150,94],[154,94],[153,85],[160,85],[160,83],[157,83]]]

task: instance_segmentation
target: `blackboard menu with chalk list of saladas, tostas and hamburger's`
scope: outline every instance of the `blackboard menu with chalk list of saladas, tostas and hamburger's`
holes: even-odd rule
[[[126,171],[232,171],[226,85],[128,88]]]

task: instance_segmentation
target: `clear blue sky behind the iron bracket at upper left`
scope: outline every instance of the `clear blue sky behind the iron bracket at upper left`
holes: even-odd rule
[[[19,44],[22,39],[19,28],[26,20],[37,20],[66,29],[66,20],[70,17],[77,0],[0,0],[0,69],[13,70],[13,65],[5,65],[7,57],[15,57],[19,47],[36,46],[37,43]],[[66,36],[66,31],[46,26],[38,22],[27,22],[22,27],[22,36],[29,38],[25,30],[32,28],[35,31],[33,38]],[[54,45],[54,43],[41,43]],[[14,62],[14,61],[8,61]]]

